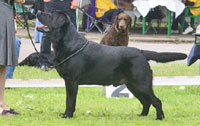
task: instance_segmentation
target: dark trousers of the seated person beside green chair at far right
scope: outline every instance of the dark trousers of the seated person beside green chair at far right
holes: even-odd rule
[[[173,15],[172,30],[178,30],[178,23],[180,23],[181,27],[183,27],[183,31],[185,31],[185,29],[189,26],[188,23],[183,19],[184,14],[185,10],[177,18],[175,18],[175,14]],[[184,26],[182,26],[183,20],[185,22]]]

